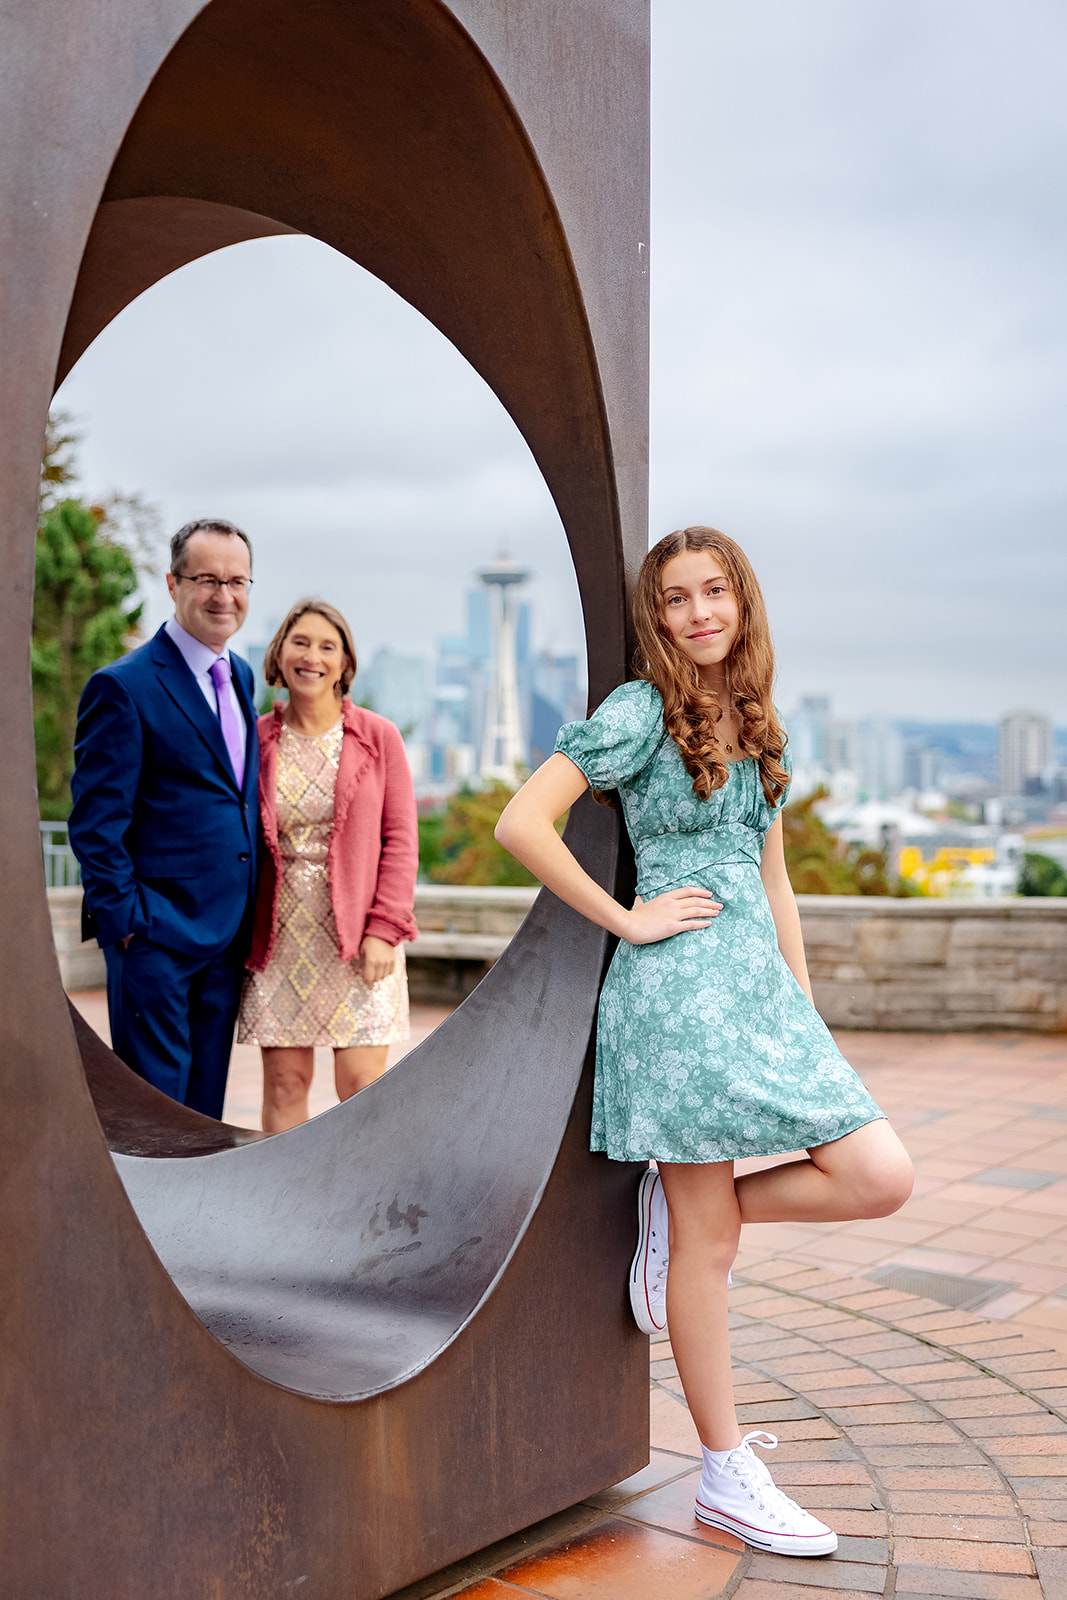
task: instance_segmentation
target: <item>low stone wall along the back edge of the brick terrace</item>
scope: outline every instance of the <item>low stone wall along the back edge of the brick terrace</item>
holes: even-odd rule
[[[536,890],[419,885],[408,950],[413,1000],[470,994]],[[67,989],[101,989],[104,957],[82,944],[80,890],[50,890]],[[1067,899],[881,899],[801,894],[816,1003],[832,1027],[1067,1030]]]

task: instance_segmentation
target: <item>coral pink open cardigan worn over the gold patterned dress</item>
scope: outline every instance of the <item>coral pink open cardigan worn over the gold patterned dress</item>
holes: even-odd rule
[[[259,821],[267,846],[259,875],[248,968],[262,973],[278,928],[278,738],[282,706],[259,718]],[[341,960],[354,962],[368,934],[387,944],[418,938],[413,917],[419,832],[400,730],[344,701],[344,736],[326,851]]]

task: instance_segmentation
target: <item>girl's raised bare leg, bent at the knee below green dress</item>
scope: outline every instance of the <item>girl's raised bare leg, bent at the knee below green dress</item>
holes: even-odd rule
[[[885,1118],[832,1144],[817,1144],[808,1155],[739,1178],[741,1221],[851,1222],[889,1216],[912,1192],[910,1157]]]

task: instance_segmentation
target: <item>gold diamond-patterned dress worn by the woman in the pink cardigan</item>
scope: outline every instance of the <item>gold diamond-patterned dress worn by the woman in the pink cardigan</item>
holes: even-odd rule
[[[394,1045],[408,1037],[403,944],[389,978],[365,984],[342,962],[330,904],[326,850],[342,722],[320,734],[282,726],[278,739],[278,930],[264,973],[245,973],[238,1043],[267,1048]]]

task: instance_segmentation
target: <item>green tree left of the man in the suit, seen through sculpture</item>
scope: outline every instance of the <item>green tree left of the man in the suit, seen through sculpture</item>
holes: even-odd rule
[[[67,493],[77,475],[77,434],[64,413],[48,418],[40,475],[40,523],[30,669],[37,794],[45,821],[70,810],[74,730],[82,690],[115,661],[141,619],[138,570],[152,570],[158,518],[136,494],[90,506]]]

